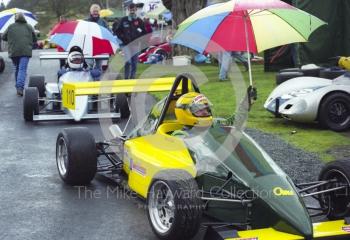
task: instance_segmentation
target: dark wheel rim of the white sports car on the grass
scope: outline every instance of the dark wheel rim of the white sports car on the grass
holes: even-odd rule
[[[343,124],[350,119],[350,109],[344,101],[334,101],[329,106],[329,119],[336,124]]]

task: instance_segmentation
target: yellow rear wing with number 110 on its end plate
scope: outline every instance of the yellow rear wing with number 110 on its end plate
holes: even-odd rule
[[[96,82],[65,82],[62,88],[62,102],[65,108],[74,110],[75,100],[78,96],[140,92],[168,92],[171,90],[174,81],[174,77],[168,77]],[[181,90],[181,85],[178,87],[178,90]]]

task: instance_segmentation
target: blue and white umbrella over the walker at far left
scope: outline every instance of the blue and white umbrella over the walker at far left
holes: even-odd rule
[[[27,23],[31,26],[34,27],[38,23],[33,13],[27,10],[20,8],[7,9],[0,12],[0,33],[4,33],[8,26],[15,22],[15,14],[19,12],[23,13]]]

